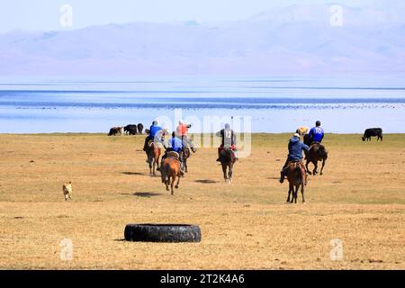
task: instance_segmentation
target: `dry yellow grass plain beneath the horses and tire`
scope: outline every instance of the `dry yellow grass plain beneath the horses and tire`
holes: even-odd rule
[[[0,135],[0,268],[404,269],[405,135],[327,135],[307,204],[279,184],[290,135],[258,134],[225,184],[199,149],[171,196],[148,175],[142,136]],[[73,200],[62,184],[72,181]],[[193,223],[201,243],[123,241],[127,223]],[[70,238],[73,260],[59,242]],[[332,261],[330,240],[343,241]]]

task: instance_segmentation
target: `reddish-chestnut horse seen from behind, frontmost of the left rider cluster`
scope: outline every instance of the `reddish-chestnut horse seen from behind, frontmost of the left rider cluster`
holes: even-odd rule
[[[160,174],[162,178],[162,183],[166,184],[166,191],[169,191],[169,184],[171,188],[171,194],[174,194],[173,186],[175,184],[175,179],[177,178],[177,183],[175,184],[175,189],[178,189],[180,184],[180,160],[178,154],[174,151],[167,152],[166,158],[162,161],[160,166]]]

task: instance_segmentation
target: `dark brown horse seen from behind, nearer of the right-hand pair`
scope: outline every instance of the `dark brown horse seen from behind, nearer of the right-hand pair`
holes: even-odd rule
[[[298,189],[300,189],[301,186],[302,203],[305,203],[304,186],[306,185],[307,182],[307,176],[303,163],[301,161],[290,162],[286,168],[286,175],[289,182],[287,202],[297,203]],[[290,201],[290,196],[292,193],[293,196]]]

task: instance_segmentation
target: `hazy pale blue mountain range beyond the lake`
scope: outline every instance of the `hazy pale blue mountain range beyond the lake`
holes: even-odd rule
[[[389,3],[389,4],[387,4]],[[229,23],[128,23],[0,34],[0,76],[405,72],[405,3],[293,5]]]

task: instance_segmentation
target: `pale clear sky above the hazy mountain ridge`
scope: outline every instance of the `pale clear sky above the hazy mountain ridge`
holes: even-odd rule
[[[247,19],[267,9],[291,4],[347,4],[372,0],[13,0],[0,4],[0,32],[80,29],[109,23],[175,21],[226,22]],[[70,27],[60,24],[60,7],[73,8]]]

